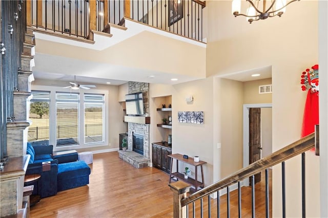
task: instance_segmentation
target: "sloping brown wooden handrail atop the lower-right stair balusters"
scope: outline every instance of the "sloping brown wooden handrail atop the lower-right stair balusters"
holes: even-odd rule
[[[241,181],[245,178],[248,178],[252,175],[255,175],[258,172],[263,171],[264,169],[270,168],[276,164],[279,164],[285,160],[288,160],[292,157],[302,154],[303,152],[313,148],[315,145],[315,133],[312,133],[304,138],[297,140],[296,142],[277,150],[270,156],[260,159],[248,167],[238,170],[233,175],[224,178],[206,188],[203,188],[189,197],[181,200],[181,207],[186,206],[187,204],[194,202],[206,195],[209,195],[213,192],[216,192],[224,187],[227,187],[231,184],[234,184],[238,181]]]

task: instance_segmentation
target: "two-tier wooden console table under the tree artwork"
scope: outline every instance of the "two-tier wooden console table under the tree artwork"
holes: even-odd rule
[[[199,162],[195,162],[193,158],[189,157],[188,159],[183,158],[183,155],[180,154],[173,154],[173,155],[168,155],[168,157],[172,158],[171,161],[171,172],[170,172],[170,179],[169,179],[169,183],[171,183],[171,180],[173,177],[177,178],[177,180],[181,180],[183,182],[186,182],[190,185],[193,185],[195,188],[190,188],[190,192],[195,192],[198,190],[199,188],[204,188],[204,173],[203,173],[203,164],[206,164],[207,162],[205,161],[199,161]],[[176,160],[176,172],[172,172],[173,171],[173,159]],[[189,178],[185,179],[185,175],[183,175],[183,173],[179,172],[179,161],[183,162],[183,163],[187,163],[189,165],[192,165],[195,167],[195,179]],[[197,178],[197,168],[198,166],[200,166],[200,172],[201,172],[201,182],[198,181]]]

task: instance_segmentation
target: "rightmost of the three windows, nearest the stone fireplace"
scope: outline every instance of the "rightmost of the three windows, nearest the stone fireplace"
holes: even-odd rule
[[[84,142],[104,142],[104,95],[84,95]]]

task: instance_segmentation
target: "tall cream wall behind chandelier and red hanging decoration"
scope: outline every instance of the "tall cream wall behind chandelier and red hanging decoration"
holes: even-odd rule
[[[223,75],[272,66],[273,151],[300,138],[306,95],[300,88],[301,72],[318,63],[317,1],[299,1],[288,6],[282,17],[249,24],[231,14],[231,1],[208,1],[209,35],[207,76]],[[219,27],[219,28],[218,28]],[[222,122],[223,123],[223,122]],[[318,169],[318,158],[308,155],[308,169]],[[287,216],[299,217],[301,204],[299,160],[286,163]],[[273,216],[281,216],[279,169],[273,171]],[[307,175],[310,178],[309,175]],[[306,184],[313,207],[307,216],[320,216],[319,172],[311,171]]]

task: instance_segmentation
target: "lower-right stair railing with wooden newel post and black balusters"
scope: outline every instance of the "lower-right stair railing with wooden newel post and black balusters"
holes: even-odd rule
[[[216,214],[220,217],[220,190],[227,189],[227,217],[230,217],[230,186],[238,184],[238,217],[241,217],[241,185],[240,183],[247,178],[251,178],[251,188],[252,188],[252,217],[255,217],[255,184],[254,175],[261,171],[265,171],[265,216],[269,217],[269,176],[268,170],[277,164],[281,164],[282,173],[282,217],[286,216],[286,206],[285,206],[285,161],[289,160],[295,156],[301,155],[301,178],[302,178],[302,217],[305,217],[305,151],[308,151],[316,145],[316,155],[318,150],[318,126],[316,126],[316,132],[310,134],[304,138],[297,140],[296,142],[277,150],[273,154],[263,159],[260,159],[248,167],[238,170],[233,175],[224,178],[212,185],[209,185],[197,192],[189,195],[187,197],[187,192],[189,192],[190,185],[184,183],[183,181],[178,181],[169,184],[171,190],[173,191],[173,212],[174,217],[188,217],[189,213],[192,212],[193,217],[195,217],[195,202],[200,201],[200,217],[203,217],[203,199],[208,198],[208,217]],[[216,194],[217,198],[212,199],[211,194]],[[211,208],[211,201],[216,201],[216,210]],[[189,209],[191,207],[191,209]],[[212,211],[212,212],[211,212]],[[216,212],[214,212],[216,211]],[[197,216],[198,217],[198,216]]]

